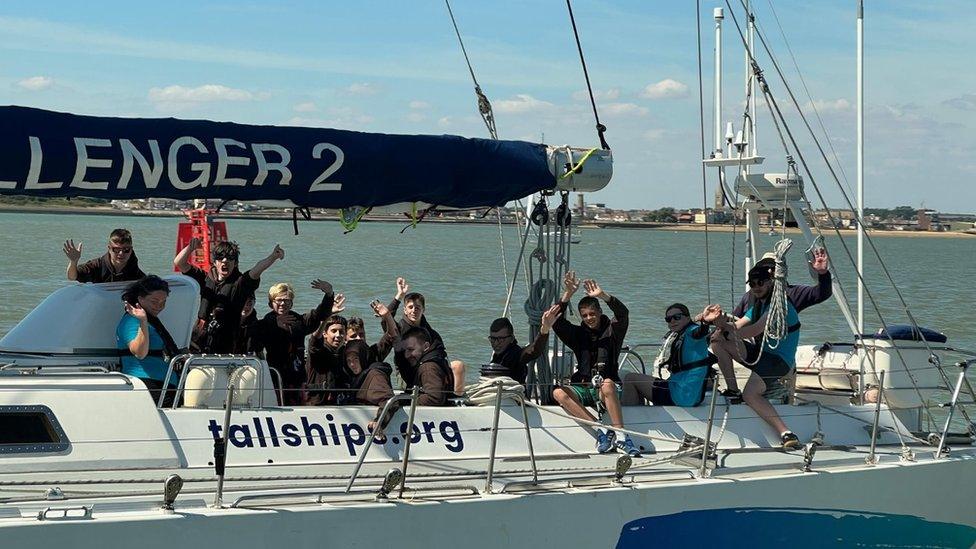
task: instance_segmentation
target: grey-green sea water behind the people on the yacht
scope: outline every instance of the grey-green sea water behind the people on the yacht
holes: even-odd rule
[[[128,228],[142,270],[168,274],[173,270],[179,221],[173,217],[0,213],[0,232],[4,235],[0,239],[4,303],[0,334],[52,291],[69,284],[62,252],[65,239],[84,242],[82,256],[87,260],[105,252],[112,229]],[[515,270],[520,245],[516,228],[505,226],[500,237],[498,227],[490,224],[422,222],[401,233],[407,225],[407,220],[402,225],[367,222],[343,234],[337,222],[301,222],[300,234],[295,236],[290,219],[227,220],[230,238],[241,246],[242,269],[265,257],[276,243],[285,249],[285,259],[262,277],[259,314],[268,310],[263,292],[276,282],[295,286],[297,311],[313,308],[320,294],[309,284],[322,278],[346,295],[343,314],[367,320],[367,337],[374,340],[381,329],[368,304],[372,299],[388,301],[394,294],[396,277],[403,276],[411,291],[426,296],[428,320],[444,337],[451,358],[471,365],[468,375],[473,379],[478,366],[491,356],[488,326],[502,314],[504,272],[508,272],[510,282]],[[812,284],[803,255],[806,245],[799,235],[792,237],[795,243],[788,253],[789,280]],[[778,238],[762,235],[760,250],[771,250]],[[583,230],[582,242],[573,246],[570,259],[580,277],[596,279],[630,309],[627,343],[650,343],[660,341],[666,331],[663,317],[668,305],[681,302],[696,312],[712,302],[731,311],[742,295],[743,232],[733,236],[712,231],[708,240],[706,254],[703,232]],[[873,240],[918,323],[945,333],[954,347],[976,350],[971,317],[976,303],[976,237],[883,236]],[[845,237],[844,243],[854,254],[854,236]],[[530,239],[526,256],[536,247],[537,242]],[[828,236],[827,248],[853,303],[856,279],[847,253],[840,239],[833,236]],[[898,294],[870,246],[866,246],[865,257],[868,291],[881,316],[889,324],[908,323]],[[550,253],[546,259],[551,264],[559,258]],[[526,295],[520,272],[511,318],[523,344],[528,343]],[[581,289],[576,298],[582,295]],[[851,331],[833,300],[803,311],[801,320],[803,344],[851,341]],[[878,312],[867,303],[865,331],[873,332],[880,325]]]

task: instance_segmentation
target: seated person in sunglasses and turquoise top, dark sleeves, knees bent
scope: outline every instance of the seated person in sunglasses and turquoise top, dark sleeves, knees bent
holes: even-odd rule
[[[624,377],[624,406],[641,405],[646,399],[655,406],[698,406],[705,397],[705,380],[716,358],[708,350],[710,324],[720,329],[730,325],[718,305],[709,305],[692,318],[682,303],[664,312],[668,335],[661,345],[656,366],[667,366],[668,379],[631,373]]]

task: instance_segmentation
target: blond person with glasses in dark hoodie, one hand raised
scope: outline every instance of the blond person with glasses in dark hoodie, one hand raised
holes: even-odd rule
[[[319,324],[332,314],[336,295],[332,285],[324,280],[313,280],[312,288],[322,292],[322,301],[311,311],[298,314],[292,310],[295,290],[291,285],[278,283],[268,290],[268,306],[271,311],[261,320],[244,329],[244,340],[250,340],[252,349],[264,351],[268,366],[281,376],[284,406],[302,404],[302,384],[305,383],[305,337],[318,329]],[[272,376],[275,385],[278,380]],[[277,387],[276,387],[277,388]]]

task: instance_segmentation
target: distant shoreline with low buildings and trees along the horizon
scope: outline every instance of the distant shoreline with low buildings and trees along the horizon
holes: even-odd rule
[[[23,213],[23,214],[74,214],[74,215],[108,215],[108,216],[118,216],[118,217],[176,217],[185,218],[183,212],[172,211],[172,210],[118,210],[111,207],[100,207],[100,206],[18,206],[11,204],[0,204],[0,213]],[[221,212],[218,216],[221,219],[263,219],[271,221],[291,221],[292,216],[288,213],[276,211],[276,212]],[[313,214],[310,221],[337,221],[338,217],[335,215],[326,214]],[[299,221],[306,221],[299,216]],[[363,223],[409,223],[410,219],[405,216],[391,216],[391,215],[376,215],[362,220]],[[485,219],[471,219],[471,218],[437,218],[429,217],[424,219],[424,223],[448,223],[448,224],[461,224],[461,225],[494,225],[497,223],[496,219],[493,217]],[[506,225],[511,225],[511,221],[505,221]],[[614,228],[614,229],[627,229],[627,230],[654,230],[654,231],[672,231],[672,232],[704,232],[705,226],[698,224],[688,224],[688,223],[654,223],[654,222],[619,222],[619,221],[593,221],[588,220],[582,225],[579,225],[582,229],[604,229],[604,228]],[[832,234],[833,230],[822,229],[824,233]],[[737,225],[735,227],[731,225],[708,225],[708,231],[716,233],[731,233],[744,232],[744,225]],[[782,229],[776,229],[776,233],[780,233]],[[976,232],[962,232],[962,231],[951,231],[951,232],[933,232],[933,231],[886,231],[870,229],[868,231],[871,236],[905,236],[911,238],[971,238],[976,237]],[[768,234],[769,227],[763,227],[760,230],[761,234]],[[787,228],[787,234],[800,234],[800,230],[796,228]],[[854,235],[855,232],[849,229],[844,229],[841,234]]]

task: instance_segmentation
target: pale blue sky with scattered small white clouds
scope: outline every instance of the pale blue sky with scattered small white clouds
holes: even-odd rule
[[[976,211],[976,15],[968,2],[867,0],[865,186],[869,207]],[[731,0],[740,24],[740,0]],[[712,10],[725,7],[723,122],[741,126],[744,53],[723,2],[700,2],[705,128],[712,127]],[[566,5],[454,0],[499,137],[599,144]],[[840,185],[765,53],[757,60],[831,207],[855,183],[855,0],[753,0],[760,32]],[[703,203],[696,2],[575,0],[590,79],[614,151],[617,208]],[[784,41],[784,36],[786,41]],[[796,60],[797,72],[793,59]],[[487,137],[444,2],[5,0],[0,104]],[[760,102],[767,172],[786,153]],[[826,131],[824,131],[826,130]],[[706,142],[712,142],[711,133]],[[712,203],[715,170],[706,175]],[[808,196],[812,193],[807,178]]]

